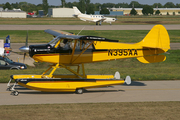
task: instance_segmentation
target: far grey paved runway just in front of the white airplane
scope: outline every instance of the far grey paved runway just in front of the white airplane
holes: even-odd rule
[[[0,30],[150,30],[154,25],[0,25]],[[180,30],[180,25],[164,25],[167,30]]]

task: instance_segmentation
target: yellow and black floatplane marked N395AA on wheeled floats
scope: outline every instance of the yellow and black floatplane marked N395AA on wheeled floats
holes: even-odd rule
[[[118,72],[115,75],[86,75],[84,64],[134,57],[142,63],[162,62],[166,56],[160,54],[170,49],[169,35],[162,25],[154,26],[141,42],[135,44],[119,43],[118,40],[97,36],[67,35],[49,29],[45,32],[55,38],[48,44],[30,45],[29,55],[35,61],[52,63],[52,66],[41,75],[12,75],[11,80],[15,84],[9,89],[14,95],[18,95],[14,89],[17,83],[38,91],[76,91],[79,94],[89,88],[130,84],[131,78],[127,76],[125,80],[121,79]],[[77,71],[69,66],[77,66]],[[79,72],[80,66],[82,74]],[[54,75],[57,68],[65,68],[74,75]],[[50,69],[52,71],[46,75]]]

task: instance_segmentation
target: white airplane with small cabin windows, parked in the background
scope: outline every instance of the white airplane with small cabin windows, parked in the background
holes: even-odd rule
[[[87,14],[82,14],[77,7],[73,7],[75,17],[80,18],[83,21],[89,21],[89,22],[95,22],[96,25],[101,25],[101,22],[106,22],[111,25],[111,22],[115,22],[117,19],[116,18],[110,18],[110,17],[104,17],[103,15],[87,15]]]

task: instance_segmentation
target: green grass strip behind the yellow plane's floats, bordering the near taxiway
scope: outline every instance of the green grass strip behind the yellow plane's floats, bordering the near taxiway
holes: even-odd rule
[[[136,58],[120,59],[99,63],[85,64],[86,74],[114,74],[119,71],[122,78],[130,75],[133,81],[140,80],[179,80],[180,79],[180,50],[169,50],[165,54],[167,59],[160,63],[143,64]],[[10,75],[15,74],[42,74],[48,63],[36,63],[37,67],[28,67],[27,70],[1,70],[0,82],[7,83]],[[72,68],[76,69],[76,68]],[[82,71],[80,71],[82,73]],[[57,69],[54,74],[71,74],[65,69]]]

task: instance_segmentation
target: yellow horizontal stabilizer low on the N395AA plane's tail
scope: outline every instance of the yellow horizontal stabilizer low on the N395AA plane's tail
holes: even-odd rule
[[[144,57],[138,57],[137,59],[142,63],[156,63],[156,62],[165,61],[166,56],[165,55],[144,56]]]

